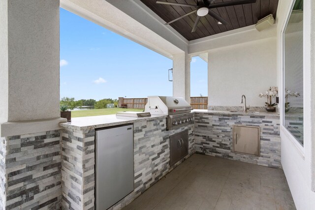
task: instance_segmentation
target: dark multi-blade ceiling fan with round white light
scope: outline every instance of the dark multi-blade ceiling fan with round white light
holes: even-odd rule
[[[174,23],[175,21],[178,21],[178,20],[186,17],[186,16],[189,16],[192,13],[197,12],[197,17],[196,17],[195,23],[193,24],[192,30],[191,30],[191,32],[194,32],[197,29],[197,25],[198,25],[200,18],[203,16],[206,16],[208,14],[211,15],[214,19],[216,19],[220,23],[222,23],[224,25],[228,24],[228,22],[226,20],[224,20],[220,15],[218,15],[216,12],[211,10],[213,8],[224,7],[224,6],[234,6],[234,5],[255,3],[256,2],[256,0],[234,0],[234,1],[213,3],[214,1],[215,0],[197,0],[197,5],[185,4],[185,3],[173,3],[173,2],[166,2],[166,1],[159,1],[159,0],[157,0],[157,3],[174,5],[174,6],[187,6],[187,7],[195,8],[191,12],[165,24],[165,25],[169,25],[171,23]]]

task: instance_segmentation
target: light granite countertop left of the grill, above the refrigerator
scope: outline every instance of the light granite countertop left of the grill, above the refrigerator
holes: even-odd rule
[[[154,115],[151,117],[120,117],[116,115],[101,115],[101,116],[91,116],[91,117],[81,117],[81,118],[72,118],[71,122],[62,122],[60,123],[61,127],[71,128],[71,129],[95,129],[100,127],[108,127],[113,125],[127,124],[144,120],[156,120],[163,119],[166,116],[164,115]]]

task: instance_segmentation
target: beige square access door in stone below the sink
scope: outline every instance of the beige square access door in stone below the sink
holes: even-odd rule
[[[259,127],[233,126],[233,151],[259,155]]]

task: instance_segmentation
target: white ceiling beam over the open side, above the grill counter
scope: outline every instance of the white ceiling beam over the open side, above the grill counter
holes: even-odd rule
[[[129,0],[126,2],[132,3]],[[187,52],[188,43],[175,36],[166,26],[164,28],[168,30],[169,37],[176,38],[165,39],[105,0],[60,0],[60,6],[170,59],[172,55]],[[133,4],[133,8],[136,13],[139,12],[150,19],[137,4]]]

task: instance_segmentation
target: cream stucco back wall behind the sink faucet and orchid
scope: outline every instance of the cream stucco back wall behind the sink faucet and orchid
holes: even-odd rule
[[[277,86],[276,38],[266,38],[208,51],[209,106],[264,106],[260,92]]]

